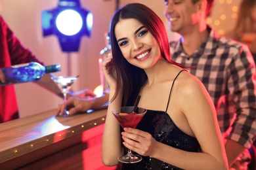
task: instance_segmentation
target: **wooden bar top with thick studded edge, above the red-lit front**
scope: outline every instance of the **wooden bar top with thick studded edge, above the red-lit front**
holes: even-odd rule
[[[72,152],[81,152],[81,147],[87,148],[82,133],[103,126],[106,109],[68,118],[54,114],[49,110],[0,124],[0,169],[17,169],[71,146]]]

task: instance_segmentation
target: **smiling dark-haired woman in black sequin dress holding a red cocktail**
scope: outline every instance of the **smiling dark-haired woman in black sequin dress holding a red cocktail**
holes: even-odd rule
[[[161,19],[142,4],[125,5],[112,18],[110,39],[104,165],[117,165],[129,148],[142,161],[123,169],[227,169],[215,107],[202,82],[171,61]],[[121,131],[112,109],[135,105],[138,95],[147,112],[136,129]]]

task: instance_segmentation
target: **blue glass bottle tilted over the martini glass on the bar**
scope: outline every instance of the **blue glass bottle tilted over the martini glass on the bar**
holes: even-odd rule
[[[0,81],[0,86],[6,86],[20,82],[39,80],[47,73],[60,71],[60,64],[43,66],[37,62],[30,62],[1,68],[1,71],[3,71],[3,74],[5,75],[5,82],[3,83]]]

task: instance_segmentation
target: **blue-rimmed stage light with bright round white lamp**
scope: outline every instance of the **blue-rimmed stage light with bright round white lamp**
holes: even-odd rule
[[[58,7],[43,10],[43,36],[56,35],[63,52],[77,52],[81,37],[91,37],[93,14],[79,0],[59,0]]]

